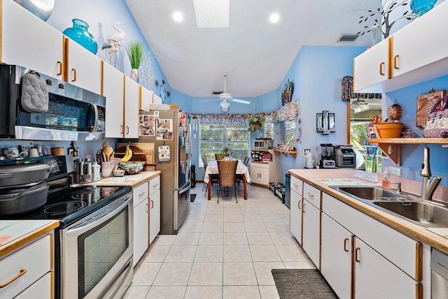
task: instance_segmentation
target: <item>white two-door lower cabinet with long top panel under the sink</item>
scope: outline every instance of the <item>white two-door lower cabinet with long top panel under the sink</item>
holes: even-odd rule
[[[322,211],[321,272],[339,298],[423,298],[420,242],[325,193]]]

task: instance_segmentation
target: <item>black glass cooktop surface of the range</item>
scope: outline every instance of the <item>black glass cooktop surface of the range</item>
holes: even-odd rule
[[[111,201],[132,192],[131,187],[67,187],[50,191],[47,203],[37,210],[25,214],[9,216],[8,219],[52,219],[60,220],[65,227],[86,214],[93,212]],[[6,219],[2,217],[2,219]]]

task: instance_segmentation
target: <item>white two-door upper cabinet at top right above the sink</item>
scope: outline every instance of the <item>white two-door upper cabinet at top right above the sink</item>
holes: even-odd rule
[[[391,92],[448,75],[447,14],[448,1],[444,1],[356,57],[353,91]],[[379,64],[383,61],[386,62],[385,75],[378,75]]]

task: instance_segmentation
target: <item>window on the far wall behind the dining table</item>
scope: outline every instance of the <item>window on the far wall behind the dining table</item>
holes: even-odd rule
[[[235,159],[244,160],[248,155],[249,131],[247,124],[201,124],[201,156],[214,160],[223,147],[232,149]],[[204,167],[200,159],[200,167]]]

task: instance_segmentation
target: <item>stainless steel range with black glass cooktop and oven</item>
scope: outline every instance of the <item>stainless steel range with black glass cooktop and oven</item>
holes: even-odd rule
[[[45,205],[2,219],[59,219],[55,298],[120,298],[134,275],[132,188],[73,187],[71,156],[43,163],[57,165]]]

